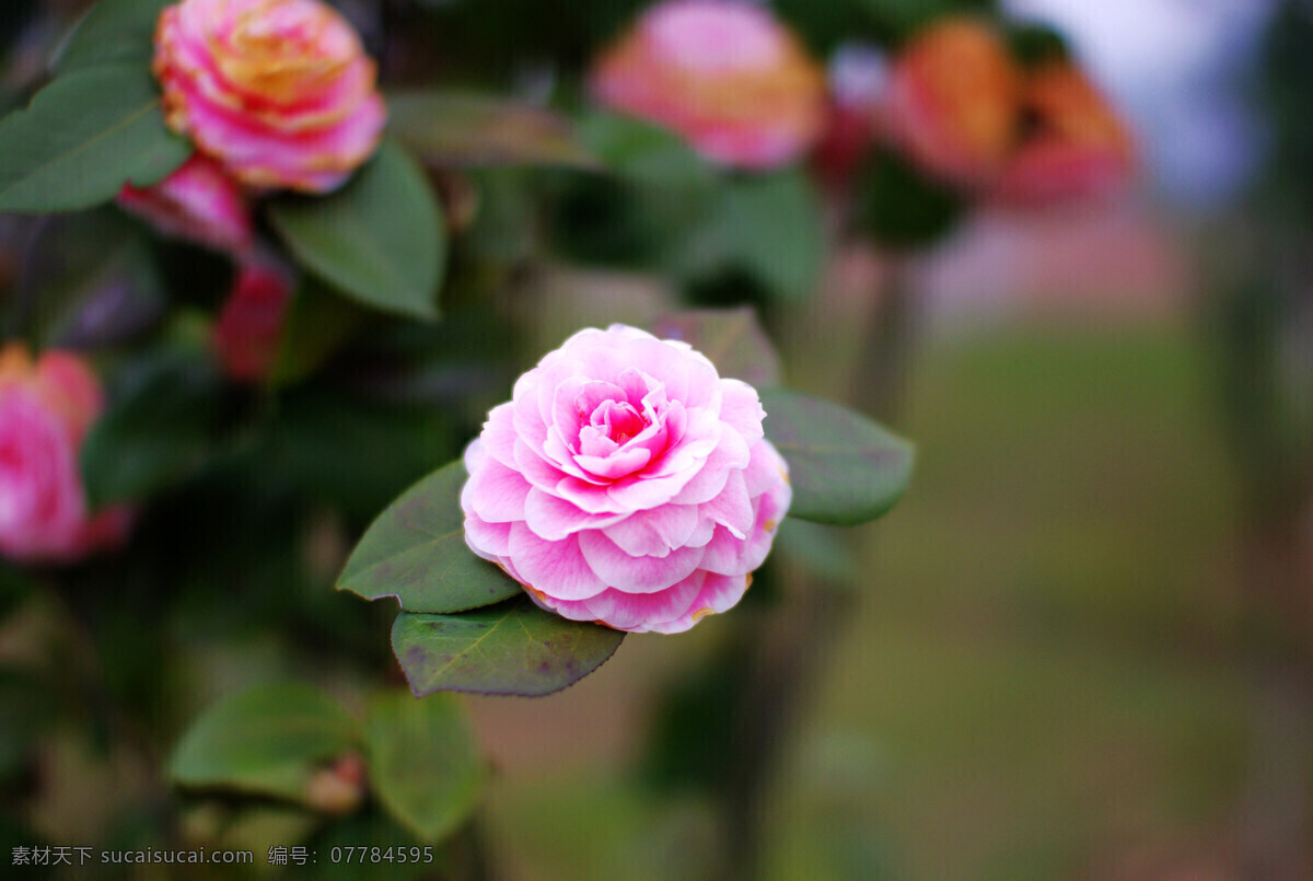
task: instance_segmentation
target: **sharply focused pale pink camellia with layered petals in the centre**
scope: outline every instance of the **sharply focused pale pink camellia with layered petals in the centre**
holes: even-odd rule
[[[584,330],[465,452],[465,540],[545,609],[679,633],[743,596],[793,498],[756,391],[687,343]]]

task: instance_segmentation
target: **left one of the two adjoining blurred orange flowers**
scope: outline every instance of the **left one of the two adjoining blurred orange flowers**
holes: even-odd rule
[[[993,29],[948,17],[898,53],[885,130],[927,173],[979,186],[997,177],[1016,143],[1020,88],[1020,72]]]

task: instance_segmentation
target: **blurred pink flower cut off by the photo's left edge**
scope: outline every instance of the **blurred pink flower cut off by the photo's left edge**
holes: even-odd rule
[[[77,454],[100,383],[74,355],[0,349],[0,554],[64,563],[123,541],[126,509],[88,515]]]

